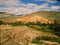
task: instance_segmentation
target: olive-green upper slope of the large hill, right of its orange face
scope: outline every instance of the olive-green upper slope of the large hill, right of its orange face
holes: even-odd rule
[[[32,13],[31,15],[35,15],[35,14],[43,16],[49,20],[60,19],[60,12],[56,12],[56,11],[38,11],[38,12]]]

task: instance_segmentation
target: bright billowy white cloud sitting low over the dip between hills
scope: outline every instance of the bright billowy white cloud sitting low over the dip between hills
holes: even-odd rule
[[[15,8],[15,9],[13,9],[13,11],[10,11],[10,13],[14,13],[14,14],[29,14],[29,13],[32,13],[32,10],[31,9],[28,9],[28,8],[22,8],[22,7],[20,7],[20,8]]]

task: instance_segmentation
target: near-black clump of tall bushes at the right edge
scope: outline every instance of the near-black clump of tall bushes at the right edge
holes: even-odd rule
[[[54,20],[54,24],[49,25],[49,29],[54,30],[55,35],[60,36],[60,24],[57,20]]]

